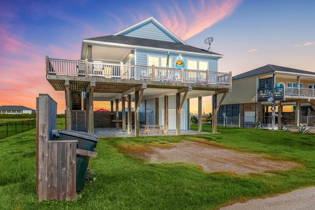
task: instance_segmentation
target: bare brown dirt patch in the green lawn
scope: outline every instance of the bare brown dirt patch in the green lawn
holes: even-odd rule
[[[170,148],[148,147],[145,151],[131,153],[153,163],[184,162],[199,165],[210,173],[272,173],[275,170],[289,170],[300,166],[295,162],[271,160],[257,154],[190,141],[173,144]]]

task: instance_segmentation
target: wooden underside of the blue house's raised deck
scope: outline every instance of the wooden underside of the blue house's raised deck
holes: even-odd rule
[[[58,77],[52,79],[52,77]],[[205,84],[185,84],[174,82],[152,82],[140,80],[120,80],[120,79],[104,79],[104,78],[85,78],[81,80],[79,77],[69,78],[63,76],[49,76],[47,80],[55,90],[65,91],[65,81],[69,81],[71,92],[87,91],[91,83],[95,83],[94,100],[95,101],[111,101],[122,99],[123,94],[127,90],[145,84],[147,86],[143,92],[143,100],[163,97],[164,95],[174,95],[179,90],[191,88],[188,91],[187,98],[196,98],[210,96],[217,93],[228,92],[231,87],[224,85],[205,85]],[[70,79],[70,80],[69,80]],[[96,80],[96,81],[95,81]],[[107,81],[107,82],[106,82]],[[134,92],[131,91],[131,97],[134,98]],[[183,92],[181,94],[184,94]]]

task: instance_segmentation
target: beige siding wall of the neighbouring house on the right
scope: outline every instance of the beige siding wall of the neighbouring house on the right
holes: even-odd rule
[[[218,103],[222,94],[218,95]],[[242,104],[256,102],[256,77],[232,82],[232,92],[226,94],[224,104]]]

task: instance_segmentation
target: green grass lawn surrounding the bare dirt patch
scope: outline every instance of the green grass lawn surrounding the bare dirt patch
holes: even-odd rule
[[[58,128],[63,123],[58,119]],[[195,125],[191,129],[196,129]],[[203,125],[203,131],[211,131]],[[218,127],[220,134],[101,139],[89,168],[96,180],[77,202],[43,201],[35,195],[35,129],[0,140],[0,209],[209,210],[229,202],[315,186],[315,135]],[[152,164],[120,148],[165,147],[202,139],[221,147],[297,161],[303,168],[269,174],[204,173],[187,164]],[[222,154],[224,155],[224,154]]]

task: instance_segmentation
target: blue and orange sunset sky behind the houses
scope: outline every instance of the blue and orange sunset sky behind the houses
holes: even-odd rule
[[[45,56],[78,60],[82,39],[111,35],[150,16],[187,44],[224,55],[232,75],[266,64],[315,72],[314,0],[6,0],[0,6],[0,106],[36,109],[47,93],[64,113],[64,92],[46,80]],[[233,87],[233,86],[232,86]],[[196,113],[196,100],[190,112]],[[106,103],[95,103],[108,109]],[[203,98],[205,113],[210,97]]]

